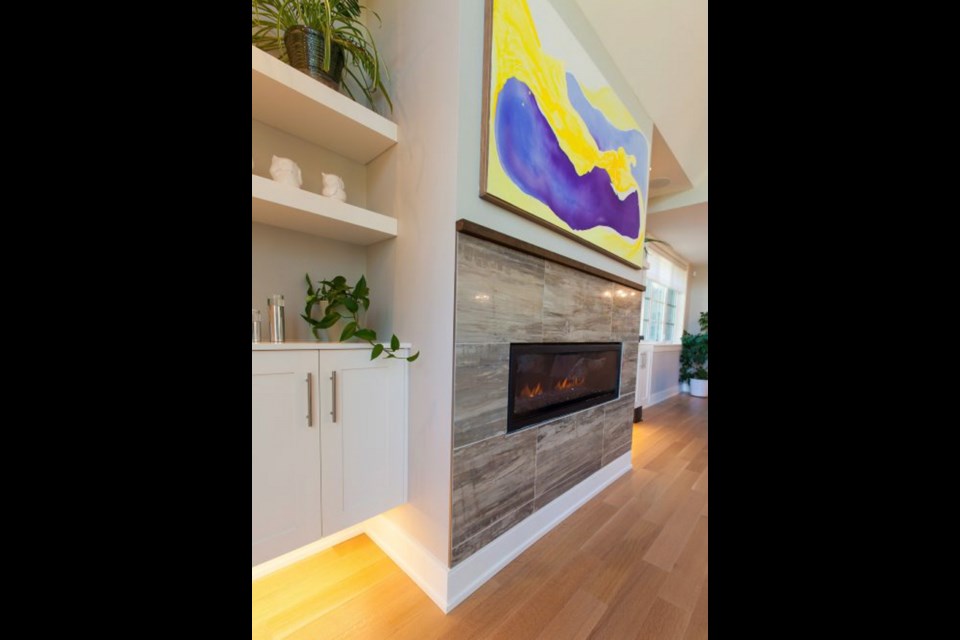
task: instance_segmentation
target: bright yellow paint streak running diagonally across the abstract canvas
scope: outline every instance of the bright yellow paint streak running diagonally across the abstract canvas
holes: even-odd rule
[[[584,175],[594,167],[600,167],[608,173],[610,182],[618,193],[639,189],[637,181],[630,173],[630,167],[636,164],[635,157],[627,154],[622,147],[615,151],[600,151],[597,148],[586,124],[567,97],[563,63],[541,51],[533,17],[523,0],[494,3],[493,58],[496,64],[491,87],[491,132],[494,130],[500,90],[508,79],[514,77],[533,92],[541,113],[550,123],[560,148],[573,163],[577,175]],[[584,90],[586,92],[586,88]],[[590,95],[598,93],[593,90]],[[622,119],[622,114],[615,109],[608,113],[609,103],[610,100],[602,93],[598,102],[592,102],[605,116]],[[639,127],[634,125],[633,128]],[[492,138],[491,134],[491,147]],[[499,164],[496,166],[499,167]]]

